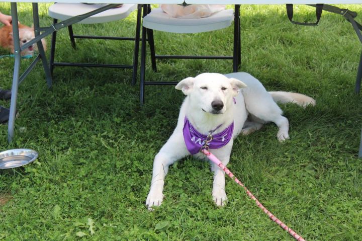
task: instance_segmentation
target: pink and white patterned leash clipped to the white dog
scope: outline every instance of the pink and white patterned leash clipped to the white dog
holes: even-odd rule
[[[200,150],[202,153],[204,153],[210,160],[211,162],[215,163],[216,165],[218,165],[222,170],[224,170],[224,172],[231,178],[233,179],[237,184],[239,184],[240,186],[242,186],[245,191],[246,194],[255,201],[256,205],[261,208],[264,213],[266,213],[270,219],[272,219],[273,221],[275,221],[276,223],[278,223],[284,230],[287,230],[289,232],[290,235],[292,235],[296,240],[298,241],[305,241],[305,239],[303,237],[301,237],[298,233],[296,233],[293,229],[289,228],[284,222],[282,222],[281,220],[279,220],[276,216],[274,216],[269,210],[267,210],[255,197],[254,195],[244,186],[244,184],[242,184],[236,177],[234,179],[234,174],[232,174],[232,172],[230,172],[229,169],[227,169],[221,162],[220,160],[210,151],[208,151],[207,149],[201,149]]]

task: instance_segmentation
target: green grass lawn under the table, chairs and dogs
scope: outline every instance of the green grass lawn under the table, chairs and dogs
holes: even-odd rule
[[[42,25],[51,23],[48,6],[40,5]],[[10,13],[9,3],[0,7]],[[343,7],[362,13],[360,6]],[[19,15],[31,25],[30,4],[19,4]],[[313,9],[296,10],[299,20],[314,16]],[[135,17],[76,25],[74,31],[131,36]],[[241,71],[259,78],[267,90],[304,93],[317,105],[281,106],[291,126],[285,143],[278,142],[273,124],[238,137],[230,170],[305,239],[360,239],[362,113],[353,88],[361,45],[352,27],[329,13],[319,27],[295,26],[285,6],[242,6],[241,25]],[[232,27],[194,36],[156,32],[156,51],[231,53],[232,32]],[[131,63],[131,56],[131,42],[80,40],[74,51],[66,30],[58,32],[57,60]],[[23,70],[30,61],[22,60]],[[10,89],[13,59],[0,59],[0,66],[1,87]],[[153,73],[148,61],[147,78],[179,81],[201,72],[228,73],[232,66],[222,60],[169,60],[158,62],[158,70]],[[231,180],[229,201],[217,208],[209,164],[193,158],[170,168],[162,206],[147,211],[153,157],[172,133],[184,96],[173,87],[148,86],[141,108],[138,83],[130,82],[130,70],[58,67],[48,90],[40,64],[30,73],[19,89],[15,140],[8,144],[7,125],[0,126],[0,148],[32,148],[39,158],[0,172],[0,239],[293,240]]]

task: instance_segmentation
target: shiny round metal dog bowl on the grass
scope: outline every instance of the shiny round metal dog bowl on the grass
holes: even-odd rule
[[[0,169],[17,168],[34,162],[38,152],[31,149],[13,149],[0,152]]]

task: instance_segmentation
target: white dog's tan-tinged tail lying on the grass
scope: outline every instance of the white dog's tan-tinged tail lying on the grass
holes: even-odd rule
[[[293,92],[284,92],[284,91],[269,91],[269,94],[272,95],[273,100],[278,103],[295,103],[303,108],[306,108],[308,105],[315,106],[315,100],[309,96],[302,95],[299,93]]]

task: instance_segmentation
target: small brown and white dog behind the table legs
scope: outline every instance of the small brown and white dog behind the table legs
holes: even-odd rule
[[[32,40],[34,37],[34,28],[19,24],[20,47]],[[43,43],[44,50],[46,50],[45,39],[42,39],[41,41]],[[13,26],[4,26],[0,29],[0,45],[14,53]],[[27,49],[24,49],[21,52],[21,55],[33,55],[34,50],[37,50],[36,44],[30,45]]]

